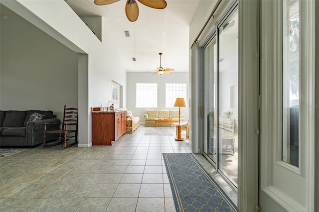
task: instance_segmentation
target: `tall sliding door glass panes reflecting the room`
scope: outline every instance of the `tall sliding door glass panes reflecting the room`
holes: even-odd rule
[[[238,176],[238,9],[204,48],[204,154],[234,187]]]

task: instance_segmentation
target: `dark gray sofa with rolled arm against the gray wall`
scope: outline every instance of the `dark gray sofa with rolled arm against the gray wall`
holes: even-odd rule
[[[29,121],[32,113],[43,114],[41,120]],[[60,120],[51,110],[0,110],[0,146],[35,147],[43,141],[44,123],[49,129],[59,129]],[[46,141],[51,140],[54,134],[47,135]]]

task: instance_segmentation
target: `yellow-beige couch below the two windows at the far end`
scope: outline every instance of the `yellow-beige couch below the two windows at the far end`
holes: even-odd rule
[[[181,113],[181,112],[180,112]],[[178,120],[179,110],[168,109],[147,109],[144,114],[145,126],[154,126],[154,120],[159,118],[172,118]],[[180,121],[184,121],[185,116],[180,114]],[[172,124],[159,124],[159,126],[173,126]]]

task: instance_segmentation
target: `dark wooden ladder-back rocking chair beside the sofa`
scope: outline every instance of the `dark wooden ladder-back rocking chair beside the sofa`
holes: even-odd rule
[[[63,113],[63,121],[61,124],[61,128],[57,130],[50,130],[49,124],[52,123],[44,123],[44,131],[43,131],[43,147],[55,146],[58,144],[63,144],[62,147],[67,148],[73,146],[78,143],[78,108],[70,107],[66,108],[64,105],[64,113]],[[46,134],[56,134],[56,138],[52,141],[52,143],[46,143],[45,137]],[[67,143],[70,139],[74,138],[73,143]]]

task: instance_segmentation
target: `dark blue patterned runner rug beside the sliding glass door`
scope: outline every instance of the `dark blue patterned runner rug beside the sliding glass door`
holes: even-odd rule
[[[237,212],[237,207],[190,153],[163,153],[177,212]]]

